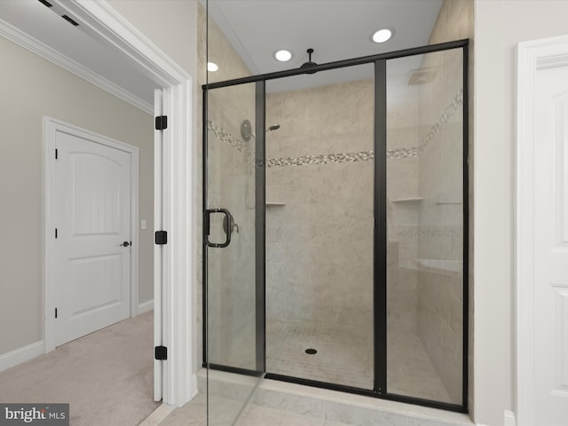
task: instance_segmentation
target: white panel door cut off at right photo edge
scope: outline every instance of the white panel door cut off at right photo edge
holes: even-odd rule
[[[539,69],[534,145],[534,420],[568,424],[568,65]]]

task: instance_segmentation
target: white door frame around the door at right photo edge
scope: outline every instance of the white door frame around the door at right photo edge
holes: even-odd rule
[[[517,46],[517,424],[534,424],[534,82],[539,69],[561,64],[568,64],[568,36]]]

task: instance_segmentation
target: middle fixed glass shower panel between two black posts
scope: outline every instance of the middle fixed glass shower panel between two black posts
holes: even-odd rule
[[[266,92],[266,371],[372,390],[374,66]]]

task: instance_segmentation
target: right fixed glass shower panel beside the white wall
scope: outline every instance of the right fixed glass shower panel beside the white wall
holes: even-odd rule
[[[387,389],[462,404],[463,54],[387,61]]]

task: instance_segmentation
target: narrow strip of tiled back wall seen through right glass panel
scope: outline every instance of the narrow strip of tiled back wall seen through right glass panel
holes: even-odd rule
[[[414,125],[418,114],[418,107],[412,102],[415,88],[406,84],[406,72],[393,72],[391,64],[387,62],[387,327],[388,332],[414,334],[417,320],[416,147],[421,130]],[[388,153],[393,151],[410,154],[389,158]]]

